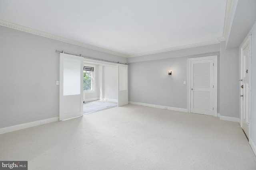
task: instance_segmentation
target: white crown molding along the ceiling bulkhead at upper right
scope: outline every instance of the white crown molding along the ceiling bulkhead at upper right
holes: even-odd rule
[[[230,18],[232,14],[232,9],[234,6],[234,0],[227,0],[226,3],[226,13],[225,13],[225,20],[224,20],[224,28],[223,28],[223,37],[227,39],[228,36],[228,29],[230,28]]]

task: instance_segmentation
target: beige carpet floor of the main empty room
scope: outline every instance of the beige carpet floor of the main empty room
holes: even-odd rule
[[[256,170],[238,123],[126,105],[0,135],[29,170]]]

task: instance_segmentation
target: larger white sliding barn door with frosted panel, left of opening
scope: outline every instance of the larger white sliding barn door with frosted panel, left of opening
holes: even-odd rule
[[[83,115],[83,57],[60,53],[60,118]]]

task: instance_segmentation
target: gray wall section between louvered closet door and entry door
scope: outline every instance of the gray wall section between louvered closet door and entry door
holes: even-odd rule
[[[220,115],[239,117],[239,50],[220,43]]]

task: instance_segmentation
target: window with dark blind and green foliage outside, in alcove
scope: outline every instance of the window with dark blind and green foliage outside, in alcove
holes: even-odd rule
[[[84,66],[84,91],[94,91],[94,67]]]

